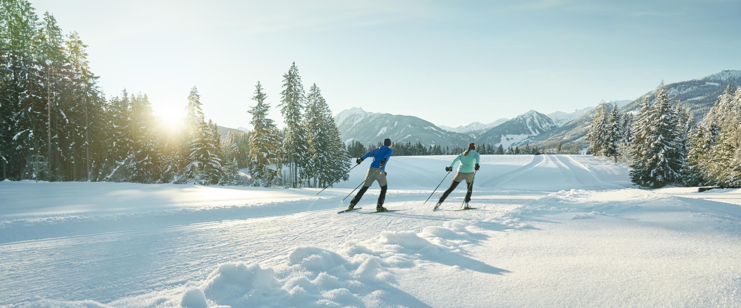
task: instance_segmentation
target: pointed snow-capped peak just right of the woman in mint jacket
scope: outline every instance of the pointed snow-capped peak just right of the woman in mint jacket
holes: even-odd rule
[[[519,146],[528,137],[542,134],[556,127],[558,125],[550,117],[531,110],[514,117],[514,119],[507,120],[493,129],[489,129],[476,138],[476,143],[501,144],[505,147]]]

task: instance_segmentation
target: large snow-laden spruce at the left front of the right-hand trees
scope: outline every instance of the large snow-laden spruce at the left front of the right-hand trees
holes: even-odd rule
[[[645,146],[634,158],[631,180],[643,187],[660,188],[679,180],[684,155],[679,145],[679,117],[664,89],[659,89],[651,107],[645,136],[636,138],[644,140]]]

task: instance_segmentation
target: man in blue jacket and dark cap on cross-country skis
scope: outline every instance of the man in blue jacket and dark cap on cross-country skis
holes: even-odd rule
[[[350,206],[348,207],[348,210],[352,210],[358,202],[360,202],[360,198],[363,197],[363,194],[365,194],[365,191],[368,191],[368,188],[373,185],[373,181],[378,181],[378,185],[381,185],[381,194],[378,196],[378,203],[376,203],[376,211],[382,212],[386,211],[386,208],[383,207],[383,201],[386,199],[386,188],[388,188],[388,182],[386,182],[386,163],[391,158],[391,153],[393,151],[391,150],[391,139],[386,138],[383,140],[383,146],[379,146],[378,148],[373,148],[370,152],[363,155],[363,157],[360,157],[355,162],[357,162],[358,165],[365,160],[368,157],[373,157],[373,162],[371,162],[371,168],[368,168],[368,173],[365,174],[365,182],[363,182],[363,188],[360,188],[360,191],[358,191],[358,194],[353,198],[353,201],[350,201]]]

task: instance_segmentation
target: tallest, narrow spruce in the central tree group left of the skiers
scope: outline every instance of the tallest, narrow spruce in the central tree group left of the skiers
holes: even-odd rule
[[[288,72],[283,75],[283,91],[281,92],[281,114],[285,121],[285,137],[282,150],[285,163],[289,164],[289,182],[293,188],[299,187],[301,170],[309,160],[306,145],[306,132],[302,112],[304,110],[304,86],[299,76],[296,62],[291,64]],[[304,176],[307,176],[304,172]]]

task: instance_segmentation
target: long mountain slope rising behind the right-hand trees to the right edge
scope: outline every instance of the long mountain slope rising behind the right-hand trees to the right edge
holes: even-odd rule
[[[664,88],[668,89],[669,95],[674,96],[674,100],[679,100],[682,106],[689,107],[695,118],[700,118],[713,106],[718,95],[722,94],[723,89],[728,84],[734,87],[741,86],[741,70],[725,70],[704,78],[669,83],[664,85]],[[645,95],[641,95],[636,100],[632,100],[631,103],[623,105],[620,108],[620,112],[631,112],[638,109],[643,97],[653,100],[655,98],[654,94],[655,89],[651,89]],[[618,106],[623,102],[625,101],[616,101]],[[570,143],[581,140],[587,134],[589,123],[591,123],[593,116],[594,110],[590,110],[571,122],[566,123],[564,126],[548,131],[545,134],[531,137],[528,141],[548,148],[553,147],[559,142]]]

